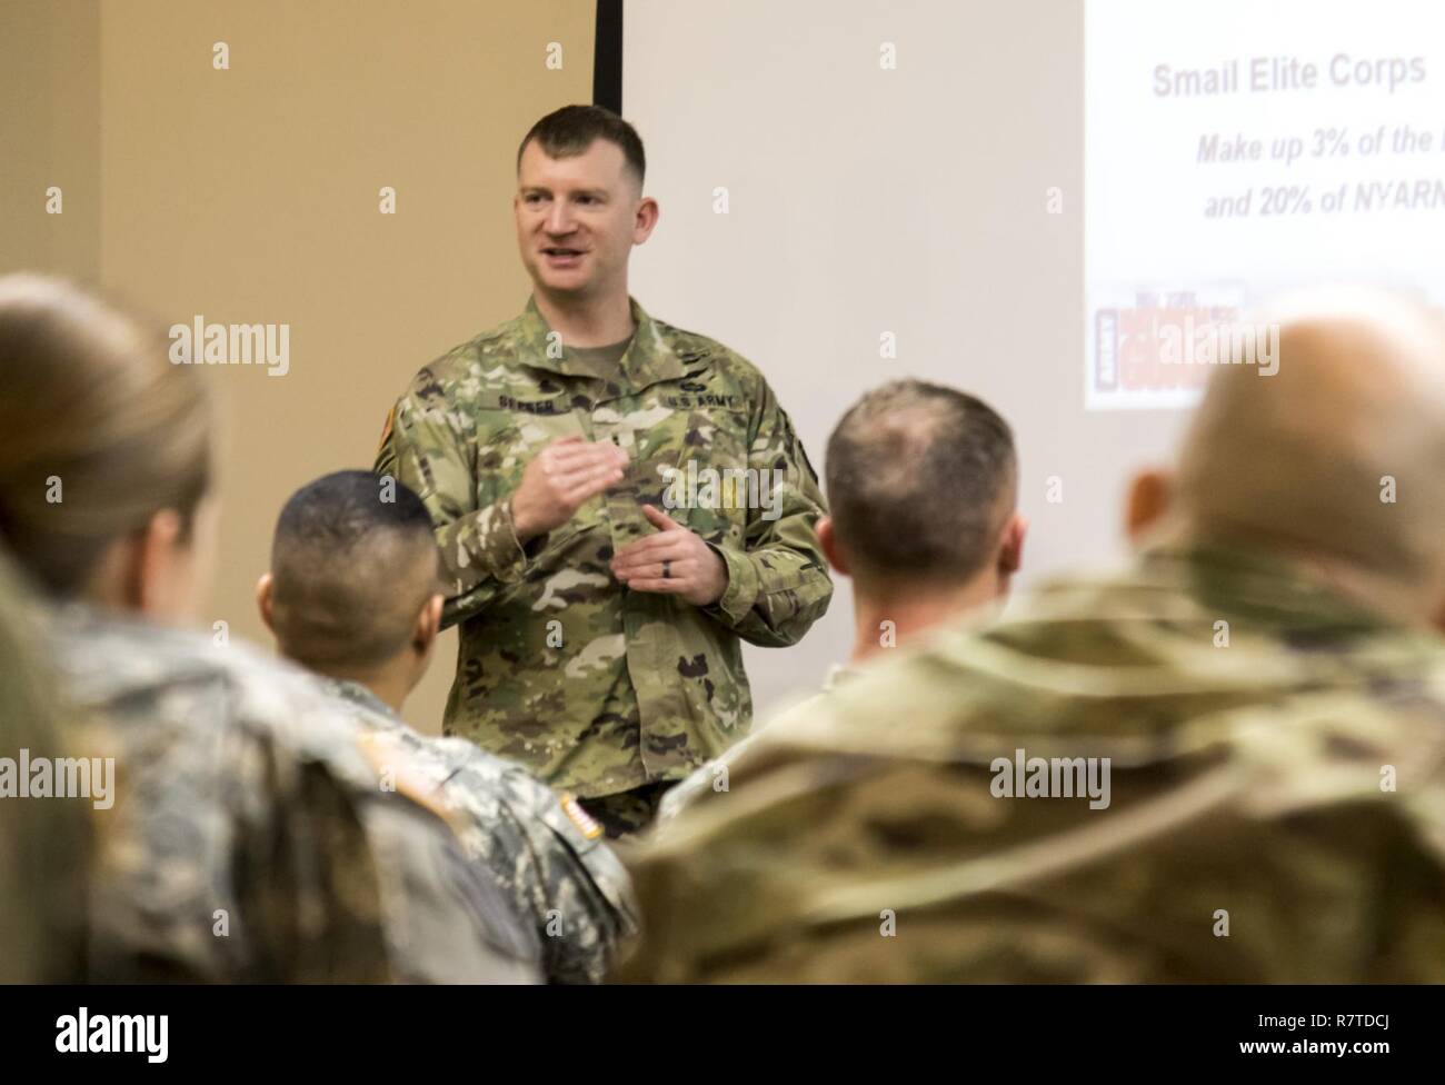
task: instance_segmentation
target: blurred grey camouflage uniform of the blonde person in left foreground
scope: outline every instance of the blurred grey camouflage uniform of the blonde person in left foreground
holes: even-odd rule
[[[116,758],[92,978],[536,981],[536,939],[447,812],[383,790],[302,672],[81,605],[53,624],[65,692],[107,717],[84,753]]]

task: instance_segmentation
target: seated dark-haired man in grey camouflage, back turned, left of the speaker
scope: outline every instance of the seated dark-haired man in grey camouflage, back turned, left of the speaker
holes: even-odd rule
[[[402,721],[436,643],[438,576],[420,498],[370,471],[338,471],[286,503],[257,595],[282,653],[319,676],[373,760],[410,764],[416,789],[447,806],[467,854],[535,929],[546,977],[600,982],[636,932],[631,880],[601,826],[520,766]]]

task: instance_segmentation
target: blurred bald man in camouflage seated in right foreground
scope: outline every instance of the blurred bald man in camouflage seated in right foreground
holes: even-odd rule
[[[785,715],[657,835],[624,978],[1445,980],[1445,338],[1274,319],[1129,572]]]

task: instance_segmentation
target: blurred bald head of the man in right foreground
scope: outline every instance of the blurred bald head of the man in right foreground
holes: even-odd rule
[[[1282,301],[1254,329],[1277,335],[1276,371],[1214,374],[1181,454],[1176,523],[1328,565],[1381,608],[1445,601],[1439,314],[1332,288]]]

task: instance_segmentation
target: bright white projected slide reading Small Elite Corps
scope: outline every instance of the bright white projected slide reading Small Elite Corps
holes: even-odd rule
[[[1445,4],[1091,0],[1085,72],[1091,406],[1191,403],[1292,286],[1441,299]]]

